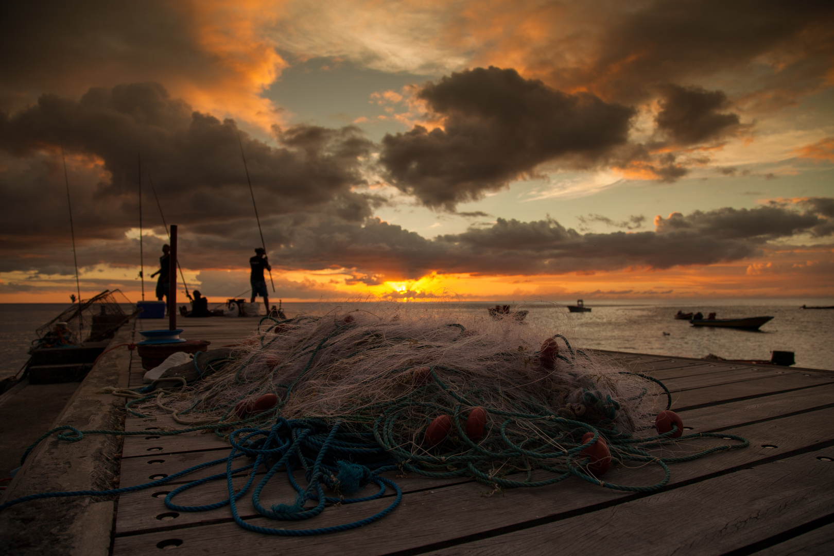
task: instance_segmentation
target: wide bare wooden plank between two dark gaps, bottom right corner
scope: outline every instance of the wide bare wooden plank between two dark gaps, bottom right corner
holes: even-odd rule
[[[825,448],[612,508],[431,552],[721,554],[830,513],[834,465]],[[821,492],[822,491],[822,492]],[[732,496],[727,496],[732,493]],[[659,518],[662,516],[662,518]],[[697,526],[692,526],[697,516]]]

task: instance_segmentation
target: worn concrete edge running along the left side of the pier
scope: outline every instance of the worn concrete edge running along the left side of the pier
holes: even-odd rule
[[[134,319],[123,325],[108,348],[133,343],[135,323]],[[124,398],[100,392],[108,386],[128,387],[132,354],[126,347],[104,353],[53,428],[72,425],[81,430],[123,430]],[[123,437],[108,434],[86,435],[80,442],[59,441],[53,435],[29,454],[0,502],[34,493],[118,488],[122,442]],[[0,546],[10,555],[108,554],[115,509],[113,497],[20,503],[0,512]]]

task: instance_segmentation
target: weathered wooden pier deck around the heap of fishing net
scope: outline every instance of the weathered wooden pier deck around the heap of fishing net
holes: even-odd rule
[[[138,320],[136,326],[161,328],[160,322]],[[206,318],[183,319],[180,324],[185,328],[184,338],[208,339],[211,348],[216,348],[247,335],[257,322]],[[121,385],[141,387],[143,369],[138,357],[126,350],[118,353],[118,365],[128,365],[117,373]],[[68,528],[64,541],[75,543],[76,552],[78,547],[98,547],[104,550],[101,553],[114,556],[153,554],[164,548],[176,548],[178,554],[305,556],[834,553],[834,373],[605,353],[630,370],[649,373],[666,383],[674,396],[672,408],[691,432],[739,435],[748,438],[751,446],[672,464],[671,482],[654,493],[600,488],[578,478],[543,488],[490,492],[487,485],[474,480],[416,475],[396,478],[395,473],[389,473],[404,491],[394,512],[361,528],[312,537],[248,532],[234,523],[228,507],[199,513],[178,513],[165,507],[166,493],[195,478],[220,473],[224,467],[218,466],[163,487],[123,494],[107,508],[103,503],[87,503],[85,509],[78,510],[84,515]],[[96,373],[94,368],[88,380],[94,381]],[[123,411],[120,414],[123,416]],[[128,431],[147,431],[147,435],[125,438],[120,453],[114,452],[118,469],[111,480],[122,487],[222,458],[229,450],[229,445],[212,433],[154,434],[163,428],[182,428],[167,417],[128,417],[123,426]],[[83,452],[88,449],[84,446],[87,442],[87,437],[78,443],[59,443],[54,438],[45,442],[47,446],[27,463],[30,479],[16,478],[4,500],[47,488],[33,482],[35,469],[48,463],[44,458],[63,457],[58,454],[69,448]],[[691,441],[689,449],[693,442],[697,445]],[[613,468],[604,479],[651,484],[661,477],[659,468],[649,465]],[[236,488],[243,483],[243,477],[234,479]],[[177,502],[214,503],[227,496],[225,481],[214,481],[183,493]],[[372,515],[386,507],[391,496],[393,493],[366,503],[332,506],[319,517],[300,523],[261,517],[249,496],[240,500],[239,513],[248,523],[264,527],[319,528]],[[293,498],[289,485],[277,477],[262,493],[264,503],[286,503]],[[34,509],[23,509],[27,505]],[[89,509],[93,506],[98,507],[97,512]],[[10,553],[41,553],[27,551],[21,545],[22,533],[8,528],[22,523],[23,515],[36,516],[33,519],[37,521],[44,512],[55,515],[67,511],[62,508],[73,507],[78,508],[78,503],[73,506],[70,500],[53,499],[9,508],[0,513],[0,542],[13,538],[19,546]],[[72,533],[78,523],[88,523],[88,529],[93,527],[89,523],[98,524],[101,536],[109,531],[108,542],[78,540],[81,533]],[[28,523],[24,528],[31,531],[31,527]],[[63,548],[55,548],[53,553],[64,553]]]

